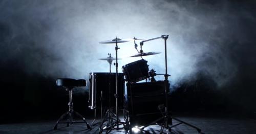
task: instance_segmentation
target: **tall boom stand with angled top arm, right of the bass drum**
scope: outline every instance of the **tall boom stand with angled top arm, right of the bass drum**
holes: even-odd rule
[[[179,120],[179,119],[177,119],[177,118],[174,118],[174,117],[172,116],[172,114],[171,114],[171,115],[168,115],[168,90],[169,90],[169,88],[168,88],[168,83],[169,83],[169,82],[168,82],[168,76],[170,76],[170,75],[167,74],[167,49],[166,49],[166,40],[167,40],[168,36],[169,36],[169,35],[162,35],[162,36],[160,36],[160,37],[156,37],[156,38],[152,38],[152,39],[148,39],[148,40],[143,40],[143,41],[140,42],[140,46],[141,46],[141,48],[142,48],[143,43],[146,42],[146,41],[151,41],[151,40],[163,38],[163,39],[164,39],[164,54],[165,54],[165,74],[164,74],[165,112],[164,112],[164,116],[161,117],[161,118],[159,118],[159,119],[157,119],[157,120],[155,120],[155,121],[152,122],[152,123],[149,123],[149,124],[143,126],[142,128],[140,128],[140,130],[143,131],[143,129],[144,129],[145,127],[150,126],[150,125],[153,125],[153,124],[157,124],[157,125],[160,125],[160,126],[161,126],[160,133],[162,133],[162,132],[164,131],[164,129],[168,129],[169,131],[172,131],[172,128],[173,128],[173,127],[178,126],[178,125],[180,125],[180,124],[185,124],[185,125],[188,125],[188,126],[190,126],[190,127],[195,128],[198,132],[201,132],[201,129],[199,129],[198,127],[196,127],[196,126],[194,126],[194,125],[191,125],[191,124],[188,124],[188,123],[186,123],[186,122],[184,122],[184,121],[182,121],[182,120]],[[159,121],[161,121],[161,120],[163,120],[163,123],[162,123],[162,124],[158,124],[157,122],[159,122]],[[173,125],[173,121],[172,121],[172,120],[176,120],[176,121],[178,121],[178,122],[180,122],[180,123],[177,123],[177,124]],[[170,124],[170,125],[169,125],[169,124]]]

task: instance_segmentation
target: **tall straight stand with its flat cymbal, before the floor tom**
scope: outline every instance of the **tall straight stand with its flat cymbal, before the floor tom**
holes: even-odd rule
[[[115,126],[117,127],[117,129],[119,129],[119,125],[123,125],[124,122],[121,122],[120,119],[119,119],[119,116],[118,116],[118,98],[119,98],[119,94],[118,94],[118,83],[117,83],[117,77],[118,77],[118,43],[122,43],[122,42],[128,42],[128,41],[131,41],[131,40],[125,40],[125,39],[119,39],[119,38],[115,38],[115,39],[112,39],[112,40],[106,40],[106,41],[101,41],[99,43],[115,43],[116,44],[116,47],[115,47],[115,50],[116,50],[116,94],[115,94],[115,98],[116,98],[116,114],[114,114],[114,112],[111,110],[111,109],[108,109],[106,111],[106,115],[105,115],[105,118],[102,120],[101,122],[101,125],[100,125],[100,133],[104,130],[104,129],[115,129]],[[110,115],[112,115],[110,117]],[[116,116],[116,119],[113,118],[113,115]],[[103,123],[105,121],[108,121],[107,125],[105,127],[102,127],[103,126]],[[114,123],[110,123],[109,121],[110,120],[114,120],[115,122]]]

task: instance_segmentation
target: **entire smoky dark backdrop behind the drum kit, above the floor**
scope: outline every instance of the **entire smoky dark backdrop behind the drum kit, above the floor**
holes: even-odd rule
[[[68,93],[56,78],[89,79],[108,72],[98,61],[113,46],[99,41],[154,38],[167,41],[174,111],[256,111],[254,1],[1,1],[0,84],[2,123],[54,119],[67,110]],[[160,51],[162,40],[144,51]],[[120,57],[136,54],[133,43]],[[164,72],[163,53],[148,57]],[[120,66],[137,59],[123,59]],[[114,68],[112,68],[114,70]],[[121,72],[121,67],[119,68]],[[161,80],[161,77],[157,77]],[[88,86],[74,93],[74,108],[88,109]]]

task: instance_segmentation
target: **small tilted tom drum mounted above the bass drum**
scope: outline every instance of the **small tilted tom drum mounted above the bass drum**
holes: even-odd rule
[[[144,59],[122,66],[127,81],[134,83],[148,78],[148,65]]]

